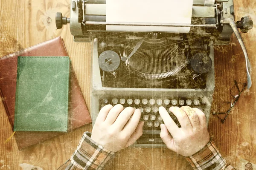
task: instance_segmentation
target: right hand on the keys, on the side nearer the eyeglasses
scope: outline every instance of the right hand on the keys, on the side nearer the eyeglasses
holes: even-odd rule
[[[209,133],[206,118],[201,110],[183,106],[181,108],[171,107],[170,111],[180,122],[180,128],[165,108],[159,108],[160,116],[165,123],[160,125],[160,137],[170,150],[182,156],[191,156],[207,145]]]

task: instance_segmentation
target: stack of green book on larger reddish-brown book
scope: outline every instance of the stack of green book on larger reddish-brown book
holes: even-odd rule
[[[91,122],[61,37],[0,58],[0,95],[19,149]]]

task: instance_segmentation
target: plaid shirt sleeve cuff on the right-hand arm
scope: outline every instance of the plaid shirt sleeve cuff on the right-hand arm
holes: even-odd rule
[[[212,140],[194,155],[186,157],[186,160],[194,170],[236,170],[222,158]]]

